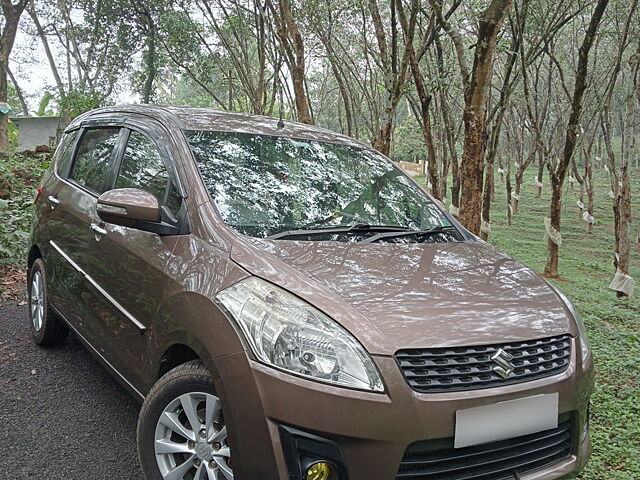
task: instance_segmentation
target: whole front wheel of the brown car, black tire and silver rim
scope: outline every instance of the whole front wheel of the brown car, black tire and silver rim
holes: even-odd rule
[[[142,404],[137,441],[146,480],[233,479],[220,399],[199,360],[174,368],[153,386]]]

